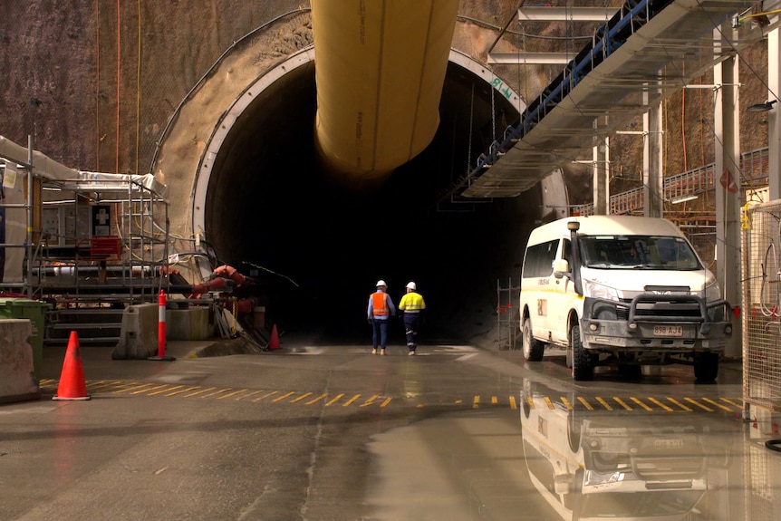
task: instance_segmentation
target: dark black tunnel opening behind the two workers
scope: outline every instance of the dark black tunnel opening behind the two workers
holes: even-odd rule
[[[283,331],[371,342],[366,307],[380,278],[394,304],[410,280],[418,284],[428,307],[421,342],[490,330],[497,284],[518,284],[525,238],[541,215],[539,190],[439,198],[517,109],[492,100],[486,82],[450,63],[432,143],[380,188],[357,192],[319,167],[314,72],[300,69],[257,94],[214,163],[205,215],[219,261],[256,281],[245,291]],[[403,343],[397,323],[391,343]]]

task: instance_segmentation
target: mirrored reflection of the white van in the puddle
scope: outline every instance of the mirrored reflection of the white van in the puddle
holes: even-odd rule
[[[680,417],[660,416],[649,427],[618,412],[579,417],[545,395],[558,394],[525,382],[524,458],[535,489],[562,519],[680,520],[706,493],[704,437]]]

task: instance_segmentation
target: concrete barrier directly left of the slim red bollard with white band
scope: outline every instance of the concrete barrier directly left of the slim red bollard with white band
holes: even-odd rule
[[[113,360],[146,360],[158,354],[158,304],[135,304],[122,314],[120,342]]]

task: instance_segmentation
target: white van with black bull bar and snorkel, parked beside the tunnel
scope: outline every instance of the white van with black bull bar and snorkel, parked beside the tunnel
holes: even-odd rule
[[[716,278],[669,220],[565,217],[532,230],[521,275],[525,359],[545,346],[566,350],[573,378],[618,363],[686,363],[713,381],[732,335],[729,304]]]

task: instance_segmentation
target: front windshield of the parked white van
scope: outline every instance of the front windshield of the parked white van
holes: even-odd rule
[[[590,268],[702,269],[689,242],[676,236],[580,236],[579,245]]]

